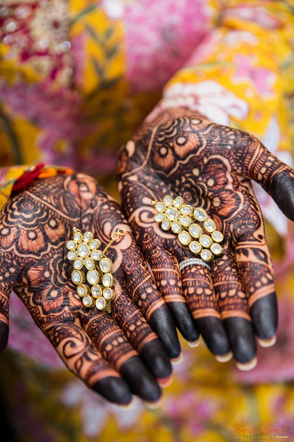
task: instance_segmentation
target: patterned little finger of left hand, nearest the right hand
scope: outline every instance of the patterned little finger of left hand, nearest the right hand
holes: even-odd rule
[[[138,253],[134,253],[134,256],[137,257],[137,265],[125,266],[124,269],[127,292],[164,344],[169,357],[177,358],[181,347],[175,321],[156,288],[146,262]]]

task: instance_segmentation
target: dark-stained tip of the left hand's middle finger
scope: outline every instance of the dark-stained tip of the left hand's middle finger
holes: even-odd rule
[[[156,402],[160,399],[161,388],[139,356],[127,359],[120,368],[120,374],[127,381],[133,394],[147,402]]]

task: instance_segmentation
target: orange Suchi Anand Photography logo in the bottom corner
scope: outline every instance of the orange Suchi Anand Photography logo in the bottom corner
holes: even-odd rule
[[[234,428],[232,428],[231,433],[234,434],[234,438],[244,438],[244,439],[282,439],[289,438],[287,436],[289,422],[287,427],[273,427],[270,423],[265,423],[264,425],[259,425],[258,421],[253,422],[253,420],[246,420],[245,422],[236,422]]]

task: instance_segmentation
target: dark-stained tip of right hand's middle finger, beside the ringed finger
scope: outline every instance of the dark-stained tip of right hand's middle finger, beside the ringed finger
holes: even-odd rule
[[[238,362],[245,363],[253,360],[257,345],[253,325],[241,317],[231,317],[223,320],[231,342],[231,349]]]

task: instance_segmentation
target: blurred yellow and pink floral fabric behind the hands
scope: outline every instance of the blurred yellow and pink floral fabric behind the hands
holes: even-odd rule
[[[1,0],[0,167],[70,167],[116,196],[117,151],[158,102],[249,131],[293,166],[293,50],[290,0]],[[279,298],[277,342],[257,367],[182,340],[162,406],[126,411],[65,369],[12,293],[0,395],[15,440],[221,442],[248,419],[289,423],[294,440],[294,227],[255,190]]]

